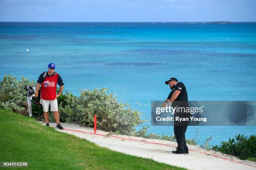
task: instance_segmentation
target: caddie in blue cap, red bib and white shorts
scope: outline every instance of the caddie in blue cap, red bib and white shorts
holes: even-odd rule
[[[59,87],[59,92],[56,95],[56,86]],[[54,112],[54,119],[57,123],[57,128],[63,129],[59,124],[59,112],[58,112],[58,102],[57,98],[61,95],[61,92],[64,88],[64,82],[61,79],[61,76],[55,72],[55,64],[50,63],[48,65],[48,72],[43,72],[36,84],[36,93],[34,97],[38,97],[38,90],[41,85],[41,100],[40,103],[43,105],[44,110],[44,120],[46,121],[46,126],[49,126],[49,104],[51,105],[51,111]]]

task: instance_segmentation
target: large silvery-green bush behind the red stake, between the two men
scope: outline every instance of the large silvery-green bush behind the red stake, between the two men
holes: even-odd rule
[[[68,122],[92,127],[96,114],[97,127],[101,130],[126,135],[135,132],[135,127],[144,122],[140,119],[141,113],[131,110],[128,103],[118,102],[114,94],[107,91],[107,88],[81,90],[79,97],[67,93],[65,105],[59,108],[61,115],[67,117]]]

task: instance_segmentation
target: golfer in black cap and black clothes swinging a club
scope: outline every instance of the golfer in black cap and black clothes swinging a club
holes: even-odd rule
[[[177,78],[170,78],[165,82],[166,85],[172,89],[167,100],[164,101],[163,106],[172,106],[172,107],[189,107],[187,100],[187,90],[185,85],[182,82],[178,82]],[[174,135],[177,140],[178,147],[172,153],[176,154],[188,154],[189,149],[186,144],[185,133],[187,130],[188,123],[187,121],[175,121],[175,117],[189,117],[190,113],[184,111],[179,111],[174,114]]]

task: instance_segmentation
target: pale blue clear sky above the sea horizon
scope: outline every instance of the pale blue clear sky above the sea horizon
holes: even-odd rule
[[[256,22],[256,0],[0,0],[11,22]]]

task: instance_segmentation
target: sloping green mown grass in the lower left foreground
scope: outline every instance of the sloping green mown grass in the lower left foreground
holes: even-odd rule
[[[0,161],[28,162],[31,170],[185,170],[99,147],[1,108]]]

